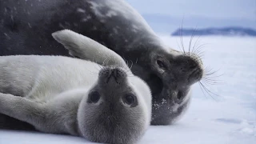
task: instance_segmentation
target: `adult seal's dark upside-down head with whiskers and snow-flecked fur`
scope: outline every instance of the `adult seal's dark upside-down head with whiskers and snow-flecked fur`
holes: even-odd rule
[[[145,63],[149,63],[148,66],[154,72],[146,80],[154,89],[151,124],[176,122],[189,105],[190,86],[200,81],[203,76],[201,59],[192,53],[181,54],[172,50],[171,54],[166,54],[162,50],[152,50],[150,62]]]

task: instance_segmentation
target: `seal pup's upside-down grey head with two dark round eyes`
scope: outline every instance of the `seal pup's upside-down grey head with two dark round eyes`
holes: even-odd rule
[[[78,129],[93,142],[137,142],[150,125],[150,96],[142,79],[121,67],[104,67],[78,108]]]

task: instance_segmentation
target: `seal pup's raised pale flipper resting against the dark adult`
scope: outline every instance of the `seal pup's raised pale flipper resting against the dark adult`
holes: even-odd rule
[[[71,56],[97,62],[100,65],[121,66],[130,70],[120,55],[82,34],[72,30],[59,30],[54,32],[52,36],[69,50]],[[95,59],[97,61],[94,61]]]

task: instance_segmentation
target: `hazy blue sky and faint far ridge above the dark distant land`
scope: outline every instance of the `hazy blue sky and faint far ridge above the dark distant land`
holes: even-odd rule
[[[184,28],[256,29],[256,0],[126,0],[152,28],[172,34]],[[182,23],[183,19],[183,23]]]

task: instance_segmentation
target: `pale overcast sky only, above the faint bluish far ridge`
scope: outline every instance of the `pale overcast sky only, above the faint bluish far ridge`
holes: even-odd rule
[[[254,19],[256,0],[126,0],[141,14]]]

